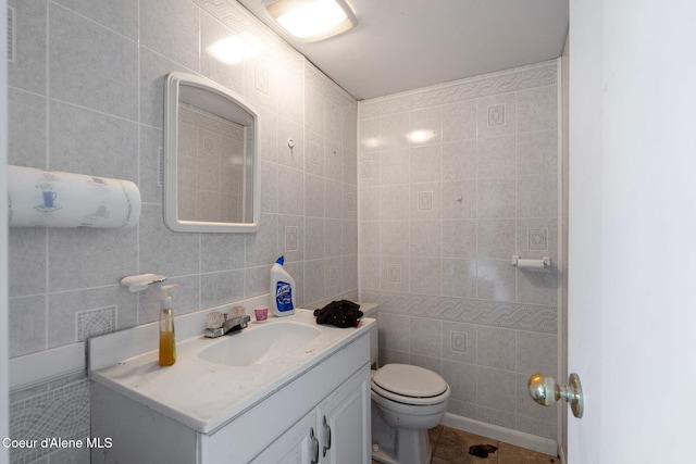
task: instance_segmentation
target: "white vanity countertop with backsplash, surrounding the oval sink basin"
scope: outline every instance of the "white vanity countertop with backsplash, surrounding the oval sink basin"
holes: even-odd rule
[[[370,305],[365,304],[365,309]],[[204,312],[202,313],[204,316]],[[89,343],[89,377],[120,393],[140,402],[200,432],[208,434],[232,421],[284,385],[297,378],[330,355],[366,335],[375,321],[363,317],[357,328],[337,328],[318,325],[312,311],[296,310],[291,316],[272,317],[262,324],[250,323],[244,330],[254,330],[264,324],[281,321],[310,324],[321,335],[297,350],[272,361],[248,366],[228,366],[207,362],[198,356],[203,348],[224,341],[202,336],[201,316],[176,318],[177,336],[191,334],[200,325],[200,336],[177,340],[176,363],[160,367],[158,350],[129,356],[115,364],[114,347],[152,348],[157,346],[158,324],[139,326],[120,333],[97,337]],[[192,325],[192,326],[191,326]],[[195,333],[195,331],[194,331]],[[144,340],[148,338],[147,342]],[[154,338],[154,340],[152,340]],[[102,340],[100,340],[102,339]],[[128,351],[134,348],[124,349]]]

